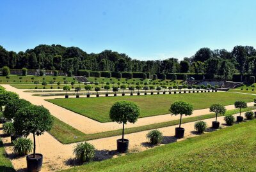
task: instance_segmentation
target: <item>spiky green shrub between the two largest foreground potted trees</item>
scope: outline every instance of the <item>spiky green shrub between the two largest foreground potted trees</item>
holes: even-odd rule
[[[80,162],[89,162],[92,161],[95,156],[95,147],[92,144],[87,143],[86,141],[82,143],[77,143],[74,148],[73,154],[76,156],[76,159]]]

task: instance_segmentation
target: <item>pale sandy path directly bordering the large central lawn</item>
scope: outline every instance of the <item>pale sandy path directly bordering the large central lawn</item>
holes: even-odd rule
[[[12,87],[10,85],[1,85],[1,86],[3,86],[6,90],[16,92],[17,94],[19,94],[20,98],[26,99],[32,104],[45,106],[45,108],[47,108],[51,112],[51,114],[54,115],[54,117],[59,118],[61,121],[78,129],[79,131],[85,134],[101,133],[104,131],[113,131],[121,128],[120,125],[115,122],[100,123],[95,120],[92,120],[91,118],[84,117],[83,115],[79,115],[78,113],[74,113],[73,111],[67,110],[65,108],[61,108],[60,106],[57,106],[55,104],[45,101],[45,99],[55,99],[57,98],[56,96],[51,96],[51,97],[32,96],[32,94],[34,94],[33,92],[24,92],[24,90],[16,89],[15,87]],[[254,104],[253,102],[248,103],[248,106],[253,106],[253,104]],[[234,109],[234,105],[228,105],[225,107],[227,108],[227,110]],[[205,115],[209,113],[210,113],[209,108],[202,109],[202,110],[195,110],[193,111],[193,117]],[[183,117],[183,118],[188,118],[188,117]],[[160,122],[168,122],[170,120],[179,120],[179,116],[171,116],[170,114],[166,114],[166,115],[157,115],[154,117],[139,118],[138,122],[136,122],[135,124],[127,124],[125,128],[139,127],[143,125],[156,124]]]

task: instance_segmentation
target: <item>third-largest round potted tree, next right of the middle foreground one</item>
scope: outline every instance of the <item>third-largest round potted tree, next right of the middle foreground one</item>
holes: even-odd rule
[[[172,115],[180,115],[180,124],[179,127],[175,128],[175,137],[176,138],[184,138],[185,129],[180,127],[182,115],[192,115],[193,106],[190,103],[186,103],[184,101],[175,101],[169,109]]]

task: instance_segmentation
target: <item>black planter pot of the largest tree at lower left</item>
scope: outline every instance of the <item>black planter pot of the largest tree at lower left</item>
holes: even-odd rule
[[[33,158],[33,154],[27,155],[27,170],[28,172],[37,172],[41,171],[43,165],[43,155],[36,154],[36,157]]]

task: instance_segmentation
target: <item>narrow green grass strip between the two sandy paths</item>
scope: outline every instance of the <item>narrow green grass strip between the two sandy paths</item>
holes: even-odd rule
[[[242,109],[242,111],[250,111],[250,110],[254,110],[254,109],[255,109],[255,107],[248,107],[248,108]],[[228,111],[226,111],[225,115],[233,115],[236,113],[239,113],[239,110],[228,110]],[[221,115],[219,115],[219,116],[221,116]],[[197,121],[197,120],[204,120],[207,118],[214,118],[214,117],[215,117],[215,114],[211,113],[211,114],[201,115],[201,116],[197,116],[197,117],[184,118],[184,119],[182,119],[182,124],[187,123],[187,122]],[[177,124],[179,124],[179,120],[172,120],[172,121],[161,122],[161,123],[157,123],[157,124],[144,125],[144,126],[140,126],[140,127],[132,127],[132,128],[125,129],[125,134],[136,133],[136,132],[140,132],[140,131],[147,131],[150,129],[158,129],[161,127],[168,127],[168,126],[177,125]],[[120,128],[121,128],[121,126],[120,126]],[[54,125],[53,125],[51,131],[49,131],[49,133],[52,136],[54,136],[54,138],[56,138],[61,143],[68,144],[68,143],[74,143],[74,142],[78,142],[78,141],[95,140],[95,139],[99,139],[99,138],[108,138],[111,136],[118,136],[118,135],[122,134],[122,129],[118,129],[115,131],[107,131],[107,132],[102,132],[102,133],[95,133],[95,134],[84,134],[81,131],[74,129],[70,125],[65,124],[58,118],[54,117]]]

